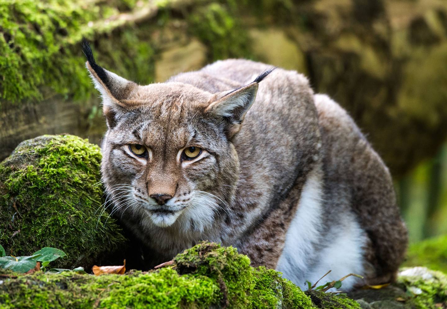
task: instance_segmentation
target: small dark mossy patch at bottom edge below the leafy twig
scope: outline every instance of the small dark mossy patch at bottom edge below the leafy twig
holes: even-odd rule
[[[360,305],[346,294],[325,293],[316,290],[304,292],[310,297],[316,308],[323,309],[361,309]]]

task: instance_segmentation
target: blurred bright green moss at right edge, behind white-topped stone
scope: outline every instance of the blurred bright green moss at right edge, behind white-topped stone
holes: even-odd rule
[[[425,266],[447,273],[447,235],[412,244],[404,266]]]

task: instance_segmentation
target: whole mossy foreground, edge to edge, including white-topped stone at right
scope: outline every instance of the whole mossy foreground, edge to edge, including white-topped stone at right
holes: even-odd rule
[[[249,263],[232,247],[201,243],[177,255],[168,266],[149,272],[94,276],[0,270],[0,308],[436,309],[447,305],[446,275],[424,267],[402,270],[396,284],[346,295],[302,292],[277,271]]]

